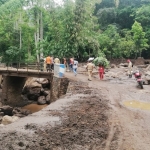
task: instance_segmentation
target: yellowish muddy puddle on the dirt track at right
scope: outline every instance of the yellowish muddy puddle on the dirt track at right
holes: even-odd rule
[[[147,102],[132,100],[132,101],[124,101],[123,105],[130,108],[138,108],[138,109],[150,111],[150,103]]]

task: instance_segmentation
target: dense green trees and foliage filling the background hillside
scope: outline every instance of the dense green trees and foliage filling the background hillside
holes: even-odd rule
[[[148,58],[149,10],[149,0],[0,0],[0,56]]]

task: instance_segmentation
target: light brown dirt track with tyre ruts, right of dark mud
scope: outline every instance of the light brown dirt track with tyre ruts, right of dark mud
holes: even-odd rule
[[[105,150],[148,150],[150,147],[150,111],[127,108],[124,101],[137,100],[147,102],[150,96],[150,86],[144,86],[144,90],[136,88],[134,78],[124,78],[123,81],[100,81],[93,78],[87,81],[87,76],[79,74],[74,77],[67,73],[67,77],[73,80],[88,82],[89,87],[97,88],[105,99],[109,100],[110,132],[107,138]]]

